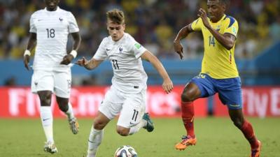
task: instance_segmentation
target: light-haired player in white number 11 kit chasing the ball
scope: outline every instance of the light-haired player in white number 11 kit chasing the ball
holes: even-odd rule
[[[94,57],[87,61],[84,57],[76,63],[88,70],[97,68],[102,61],[109,59],[113,68],[112,85],[107,91],[88,138],[87,157],[95,157],[102,142],[104,127],[120,114],[117,132],[127,136],[137,133],[140,128],[153,131],[153,122],[146,110],[146,81],[141,59],[149,61],[163,79],[162,87],[168,94],[173,89],[162,63],[145,47],[137,43],[130,34],[125,33],[125,15],[118,9],[107,15],[108,37],[102,40]]]

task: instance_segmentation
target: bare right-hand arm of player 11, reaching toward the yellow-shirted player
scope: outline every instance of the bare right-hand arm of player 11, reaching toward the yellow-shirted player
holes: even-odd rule
[[[153,67],[155,67],[155,69],[158,70],[158,73],[160,73],[160,76],[163,79],[162,88],[165,90],[165,92],[167,94],[169,94],[173,89],[173,83],[172,83],[172,80],[170,80],[169,75],[167,74],[167,71],[165,70],[165,67],[162,66],[162,63],[160,62],[160,60],[158,60],[158,58],[155,57],[148,50],[146,50],[146,52],[144,52],[141,55],[141,59],[149,61],[150,63],[152,63]]]

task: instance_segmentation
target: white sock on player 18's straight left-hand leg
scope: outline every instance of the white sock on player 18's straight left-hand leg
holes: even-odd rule
[[[50,106],[41,106],[40,114],[47,142],[54,143],[52,133],[52,110],[50,109]]]

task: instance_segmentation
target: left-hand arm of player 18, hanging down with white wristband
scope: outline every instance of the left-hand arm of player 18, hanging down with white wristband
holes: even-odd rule
[[[29,40],[27,43],[27,49],[25,50],[25,54],[23,54],[23,62],[25,63],[25,68],[29,70],[29,59],[30,59],[30,52],[34,49],[36,45],[37,40],[37,34],[36,33],[30,33],[29,34]]]

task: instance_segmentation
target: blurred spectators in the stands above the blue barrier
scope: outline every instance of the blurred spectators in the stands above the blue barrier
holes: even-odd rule
[[[124,10],[126,31],[160,59],[179,59],[173,50],[176,33],[207,10],[207,0],[61,0],[60,8],[76,17],[83,42],[78,55],[92,56],[108,36],[106,11]],[[0,0],[0,59],[21,59],[29,35],[29,17],[44,8],[43,0]],[[280,38],[279,0],[232,0],[227,15],[239,22],[235,56],[251,59]],[[183,40],[184,59],[203,55],[200,33]]]

